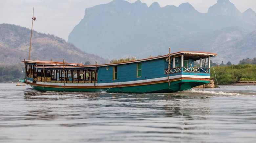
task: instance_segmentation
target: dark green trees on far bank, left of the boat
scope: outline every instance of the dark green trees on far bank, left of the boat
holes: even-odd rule
[[[24,78],[24,65],[0,65],[0,83],[17,82]]]

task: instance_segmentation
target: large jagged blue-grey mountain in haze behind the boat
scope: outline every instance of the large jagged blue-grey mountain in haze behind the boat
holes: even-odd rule
[[[256,13],[252,9],[241,13],[229,0],[218,0],[207,13],[198,12],[189,3],[161,8],[157,2],[148,7],[139,0],[113,0],[86,8],[84,18],[74,27],[68,41],[108,59],[141,59],[167,54],[171,48],[172,53],[217,53],[215,62],[236,64],[243,58],[255,57],[255,47],[249,44],[256,40],[251,37],[254,30]],[[251,52],[241,55],[246,50]]]

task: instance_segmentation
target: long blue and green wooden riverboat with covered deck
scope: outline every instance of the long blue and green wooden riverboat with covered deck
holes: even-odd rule
[[[217,54],[177,52],[122,63],[82,64],[22,60],[20,82],[38,91],[167,93],[210,82],[210,58]],[[195,61],[199,61],[196,67]]]

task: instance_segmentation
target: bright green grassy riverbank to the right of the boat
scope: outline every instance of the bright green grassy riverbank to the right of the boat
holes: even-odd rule
[[[252,64],[211,67],[211,79],[217,84],[214,71],[219,85],[256,81],[256,65]]]

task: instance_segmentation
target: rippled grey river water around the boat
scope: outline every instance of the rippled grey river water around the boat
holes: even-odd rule
[[[39,92],[0,84],[0,142],[256,142],[256,86]]]

